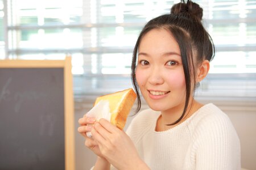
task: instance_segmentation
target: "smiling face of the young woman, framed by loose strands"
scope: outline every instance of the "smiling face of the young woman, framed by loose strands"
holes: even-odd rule
[[[151,109],[183,110],[186,90],[180,48],[166,29],[152,29],[142,37],[135,74]]]

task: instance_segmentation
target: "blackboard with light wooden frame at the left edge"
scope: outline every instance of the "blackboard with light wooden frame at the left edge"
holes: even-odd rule
[[[70,64],[0,61],[0,169],[74,169]]]

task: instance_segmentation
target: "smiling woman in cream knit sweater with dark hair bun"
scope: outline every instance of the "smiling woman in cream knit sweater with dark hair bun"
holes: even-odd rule
[[[132,77],[150,109],[126,133],[101,119],[79,120],[94,169],[241,169],[240,141],[228,116],[193,98],[207,76],[214,45],[201,24],[203,9],[188,1],[148,22],[134,48]],[[93,138],[86,137],[91,131]]]

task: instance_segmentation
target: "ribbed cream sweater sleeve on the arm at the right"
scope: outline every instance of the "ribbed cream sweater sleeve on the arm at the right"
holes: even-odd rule
[[[194,139],[196,169],[241,169],[240,141],[226,114],[201,120]]]

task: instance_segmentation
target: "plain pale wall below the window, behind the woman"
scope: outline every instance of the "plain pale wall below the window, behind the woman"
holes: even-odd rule
[[[203,103],[208,103],[204,101]],[[240,137],[241,164],[246,169],[256,169],[256,102],[215,102],[218,107],[228,114]],[[80,117],[89,111],[92,104],[85,105],[75,112],[75,145],[76,145],[76,170],[87,170],[92,167],[96,156],[84,146],[84,138],[77,132]],[[145,108],[146,106],[143,106]],[[127,124],[133,117],[128,118]],[[127,127],[127,125],[126,125]]]

